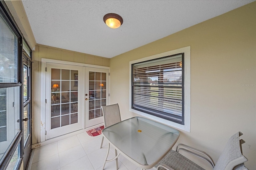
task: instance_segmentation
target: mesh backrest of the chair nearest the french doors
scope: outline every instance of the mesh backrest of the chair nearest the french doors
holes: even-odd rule
[[[105,127],[109,127],[121,121],[118,104],[102,106],[102,112],[103,112]]]

